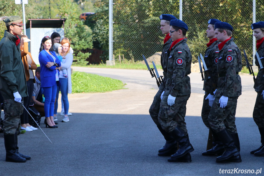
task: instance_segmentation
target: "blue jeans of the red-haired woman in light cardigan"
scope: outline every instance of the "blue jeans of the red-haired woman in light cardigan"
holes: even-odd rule
[[[54,108],[54,114],[57,114],[58,110],[58,97],[59,97],[59,90],[61,89],[61,103],[64,104],[64,114],[68,114],[69,112],[69,101],[68,101],[68,78],[60,78],[61,81],[61,87],[58,86],[57,88],[57,94],[56,94],[56,103]]]

